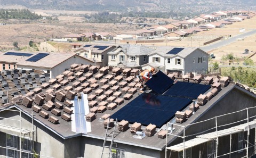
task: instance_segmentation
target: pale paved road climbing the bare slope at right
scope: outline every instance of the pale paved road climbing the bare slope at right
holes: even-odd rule
[[[203,51],[205,52],[209,52],[211,51],[212,49],[215,49],[215,48],[219,48],[219,47],[222,47],[222,46],[226,46],[230,43],[234,43],[235,41],[237,41],[237,38],[244,38],[244,37],[249,37],[249,36],[252,36],[256,34],[256,29],[253,29],[249,32],[244,32],[244,34],[240,34],[240,35],[237,35],[237,36],[234,36],[234,37],[231,37],[229,39],[226,39],[226,40],[222,40],[222,41],[219,41],[217,43],[214,43],[212,45],[209,45],[209,46],[203,46],[203,47],[200,47]]]

